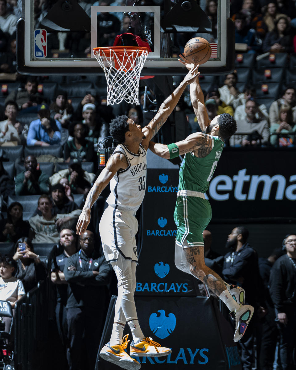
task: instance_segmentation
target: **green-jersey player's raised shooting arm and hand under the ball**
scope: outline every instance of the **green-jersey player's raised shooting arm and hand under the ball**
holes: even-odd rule
[[[188,60],[182,54],[180,54],[179,62],[184,64],[187,69],[192,68],[192,66],[194,65],[192,63],[189,63]],[[210,121],[208,112],[206,111],[205,107],[205,99],[203,97],[201,85],[199,85],[198,75],[196,75],[195,80],[190,85],[190,98],[199,127],[201,128],[202,131],[205,131]]]

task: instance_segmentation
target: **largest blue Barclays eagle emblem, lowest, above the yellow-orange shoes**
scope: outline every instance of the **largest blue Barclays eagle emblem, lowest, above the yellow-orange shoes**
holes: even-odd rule
[[[173,313],[169,313],[168,316],[165,316],[164,310],[158,310],[157,313],[152,313],[150,315],[149,326],[153,334],[158,338],[164,339],[174,331],[176,316]]]

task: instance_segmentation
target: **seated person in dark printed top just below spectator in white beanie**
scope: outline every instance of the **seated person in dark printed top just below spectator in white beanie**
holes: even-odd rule
[[[74,122],[69,126],[69,135],[73,139],[68,140],[64,145],[65,162],[70,162],[70,159],[92,162],[94,145],[87,140],[88,132],[88,126],[83,123]]]

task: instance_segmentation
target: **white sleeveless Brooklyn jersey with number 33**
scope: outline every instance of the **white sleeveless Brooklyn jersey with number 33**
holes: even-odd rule
[[[112,155],[115,153],[124,154],[129,165],[112,177],[111,194],[107,198],[107,203],[114,208],[120,206],[136,212],[145,195],[147,152],[141,144],[139,154],[130,152],[124,144],[118,144]]]

